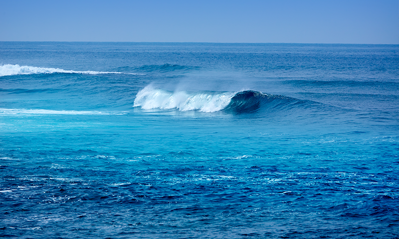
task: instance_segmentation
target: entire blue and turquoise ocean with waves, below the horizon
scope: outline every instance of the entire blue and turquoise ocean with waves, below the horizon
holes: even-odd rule
[[[399,238],[399,46],[0,42],[0,236]]]

